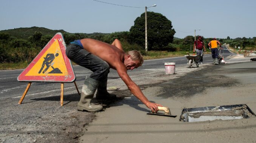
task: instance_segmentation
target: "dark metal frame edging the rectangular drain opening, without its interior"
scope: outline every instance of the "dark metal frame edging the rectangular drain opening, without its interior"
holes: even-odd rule
[[[228,111],[234,110],[232,108],[246,106],[247,110],[256,116],[253,111],[246,104],[237,104],[237,105],[223,105],[223,106],[209,106],[209,107],[197,107],[197,108],[184,108],[180,115],[180,121],[188,122],[188,113],[201,113],[201,112],[212,112],[212,111]],[[184,118],[182,118],[182,115]],[[249,118],[245,113],[243,114],[245,118]]]

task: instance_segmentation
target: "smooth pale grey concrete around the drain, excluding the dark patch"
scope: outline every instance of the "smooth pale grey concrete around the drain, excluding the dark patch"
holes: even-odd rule
[[[241,59],[235,58],[229,61],[244,61],[244,58]],[[203,92],[188,98],[171,97],[164,99],[156,97],[154,95],[161,93],[162,89],[148,87],[143,90],[147,98],[169,107],[171,114],[178,115],[176,118],[147,115],[149,109],[136,97],[126,97],[122,101],[111,105],[105,111],[96,113],[97,119],[89,124],[79,141],[83,143],[256,142],[255,117],[192,123],[179,121],[183,108],[247,104],[256,113],[256,77],[254,76],[255,72],[251,72],[254,70],[254,66],[255,63],[253,62],[248,64],[226,64],[222,66],[226,72],[205,73],[210,78],[210,76],[220,74],[225,76],[227,72],[230,72],[227,76],[238,80],[242,84],[239,84],[239,86],[207,88]],[[234,70],[239,72],[239,69],[242,68],[250,70],[243,72],[241,76],[238,73],[232,73]],[[177,69],[179,70],[179,68]],[[242,78],[251,78],[251,80],[243,80]],[[168,85],[165,86],[168,87]]]

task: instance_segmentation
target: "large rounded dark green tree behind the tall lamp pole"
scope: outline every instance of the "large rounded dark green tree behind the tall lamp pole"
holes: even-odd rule
[[[156,50],[173,42],[175,30],[171,21],[155,12],[147,12],[148,50]],[[145,13],[134,21],[130,29],[129,41],[145,47]]]

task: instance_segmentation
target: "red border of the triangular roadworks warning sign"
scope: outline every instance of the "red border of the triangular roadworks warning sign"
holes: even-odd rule
[[[59,39],[62,39],[61,42]],[[53,42],[58,40],[60,45],[60,50],[62,52],[62,56],[68,71],[68,76],[25,76],[39,61],[39,59],[45,54],[45,52],[51,47]],[[76,80],[76,75],[74,73],[73,67],[71,65],[71,61],[66,56],[66,46],[65,41],[62,36],[62,33],[57,33],[52,37],[52,39],[46,44],[46,46],[40,51],[40,53],[35,57],[34,60],[28,65],[28,67],[19,75],[17,78],[18,81],[28,81],[28,82],[61,82],[61,83],[72,83]]]

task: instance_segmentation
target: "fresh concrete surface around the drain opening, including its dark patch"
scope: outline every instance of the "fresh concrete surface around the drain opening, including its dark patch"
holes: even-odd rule
[[[255,112],[255,67],[255,62],[205,65],[179,78],[147,85],[143,93],[178,116],[183,108],[233,104],[247,104]],[[179,117],[147,115],[147,107],[134,96],[110,107],[97,114],[97,120],[89,124],[80,142],[256,142],[255,117],[185,123]]]

